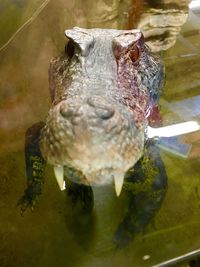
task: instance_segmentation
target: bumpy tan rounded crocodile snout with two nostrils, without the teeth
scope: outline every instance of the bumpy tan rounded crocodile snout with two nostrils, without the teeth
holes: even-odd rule
[[[122,181],[141,157],[143,144],[143,129],[136,127],[128,108],[93,95],[52,107],[40,147],[52,165],[71,166],[86,177],[81,183],[100,185],[111,182],[113,175]]]

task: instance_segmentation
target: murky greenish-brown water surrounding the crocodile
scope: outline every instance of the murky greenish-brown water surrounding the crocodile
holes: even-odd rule
[[[128,246],[119,249],[113,241],[127,214],[126,194],[117,198],[112,187],[96,188],[93,214],[74,211],[50,166],[34,212],[20,215],[24,133],[48,112],[49,61],[63,50],[64,30],[75,25],[140,27],[166,66],[163,124],[200,118],[200,9],[188,10],[187,1],[1,1],[0,266],[142,267],[199,249],[200,132],[180,136],[173,147],[163,142],[167,193]]]

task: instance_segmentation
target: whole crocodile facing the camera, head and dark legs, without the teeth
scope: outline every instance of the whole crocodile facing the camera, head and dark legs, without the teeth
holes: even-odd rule
[[[138,30],[74,28],[66,34],[65,54],[53,59],[49,69],[52,107],[47,121],[26,133],[27,189],[18,204],[22,214],[33,208],[46,161],[63,166],[72,181],[67,193],[78,215],[79,235],[77,227],[85,229],[85,222],[92,229],[90,185],[125,176],[129,205],[113,236],[124,247],[144,231],[167,190],[158,148],[150,141],[144,149],[145,128],[159,119],[163,67]]]

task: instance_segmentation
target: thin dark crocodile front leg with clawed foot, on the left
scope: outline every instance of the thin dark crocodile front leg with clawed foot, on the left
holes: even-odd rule
[[[21,213],[30,207],[33,209],[37,197],[42,193],[44,184],[45,160],[42,157],[39,147],[40,132],[44,126],[43,122],[34,124],[28,128],[25,136],[25,160],[27,189],[18,201]]]

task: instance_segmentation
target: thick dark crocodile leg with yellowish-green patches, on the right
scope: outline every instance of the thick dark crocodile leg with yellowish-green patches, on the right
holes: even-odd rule
[[[154,142],[146,144],[143,157],[127,172],[124,189],[129,195],[129,207],[114,234],[118,247],[128,245],[137,233],[145,230],[167,192],[167,173]]]

